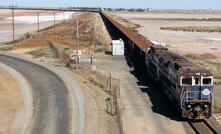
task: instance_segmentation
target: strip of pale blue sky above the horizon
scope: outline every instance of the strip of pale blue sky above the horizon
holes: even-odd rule
[[[221,9],[221,0],[1,0],[0,6],[14,3],[31,7],[111,7],[154,9]]]

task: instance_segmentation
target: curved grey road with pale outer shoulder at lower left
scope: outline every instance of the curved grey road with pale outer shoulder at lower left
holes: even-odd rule
[[[32,86],[33,117],[25,134],[84,133],[83,95],[76,81],[14,56],[0,54],[0,62],[20,72]]]

